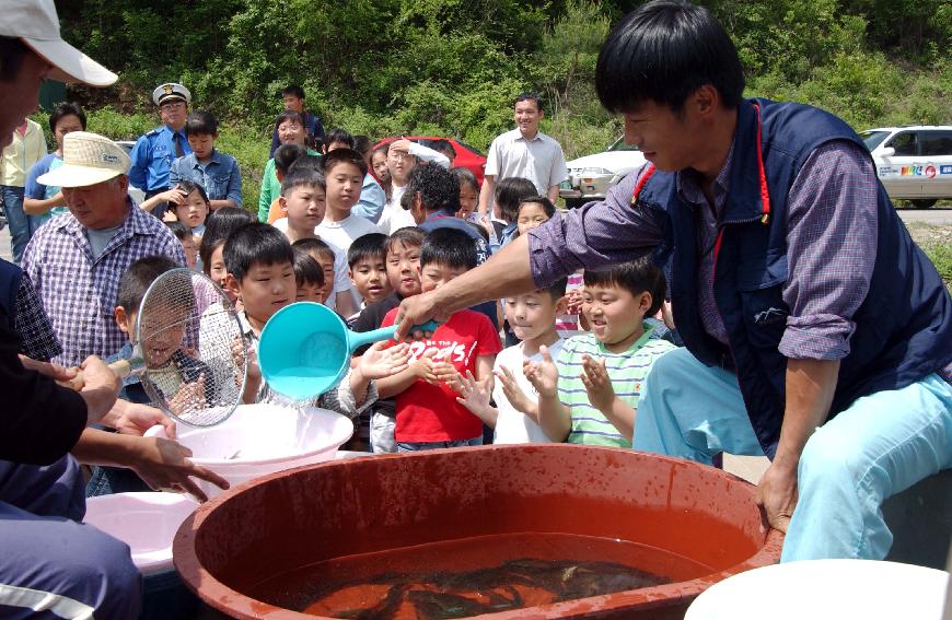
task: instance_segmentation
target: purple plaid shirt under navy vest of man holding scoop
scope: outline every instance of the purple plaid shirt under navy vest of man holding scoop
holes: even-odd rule
[[[713,243],[723,210],[731,152],[713,184],[713,206],[690,171],[677,173],[677,191],[698,218],[698,306],[705,330],[727,343],[712,292]],[[628,175],[603,202],[573,209],[529,233],[533,278],[544,286],[579,267],[599,269],[648,254],[663,236],[664,213],[631,209],[641,171]],[[834,141],[808,157],[788,194],[790,306],[780,352],[794,359],[838,360],[849,354],[852,315],[866,299],[876,250],[875,171],[869,153]]]

